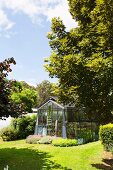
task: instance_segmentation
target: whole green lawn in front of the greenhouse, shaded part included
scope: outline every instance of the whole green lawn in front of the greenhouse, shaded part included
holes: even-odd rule
[[[102,160],[103,147],[93,142],[75,147],[26,144],[24,140],[0,142],[0,170],[109,170]]]

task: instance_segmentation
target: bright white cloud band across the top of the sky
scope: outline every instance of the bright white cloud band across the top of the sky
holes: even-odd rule
[[[10,30],[14,26],[7,15],[7,9],[14,15],[27,15],[33,23],[40,24],[43,15],[47,17],[47,21],[60,17],[68,29],[77,26],[68,11],[67,0],[0,0],[0,30]]]

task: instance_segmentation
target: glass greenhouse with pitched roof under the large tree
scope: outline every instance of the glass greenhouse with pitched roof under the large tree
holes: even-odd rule
[[[51,97],[40,105],[37,111],[37,135],[78,138],[80,142],[94,141],[98,138],[96,122],[89,120],[83,109],[78,110],[75,105],[63,106]]]

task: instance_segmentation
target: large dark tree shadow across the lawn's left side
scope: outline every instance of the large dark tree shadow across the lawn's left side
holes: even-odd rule
[[[71,170],[51,160],[51,155],[32,149],[0,149],[0,170],[8,165],[8,170]]]

